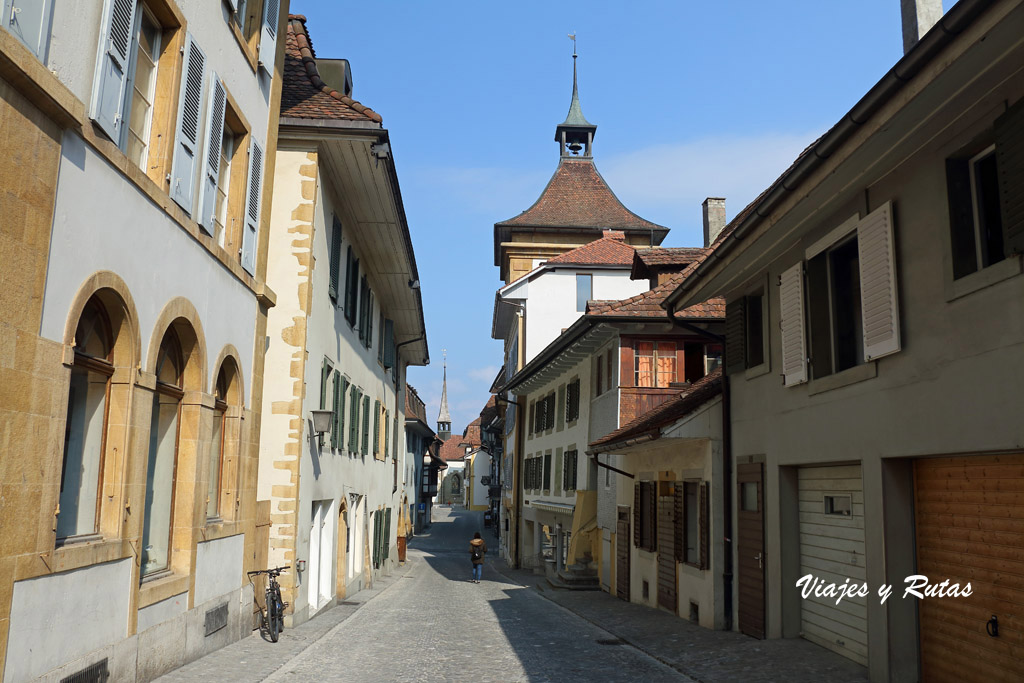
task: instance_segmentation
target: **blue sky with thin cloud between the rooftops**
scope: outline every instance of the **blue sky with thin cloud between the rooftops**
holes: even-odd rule
[[[946,9],[952,3],[946,0]],[[431,365],[409,382],[436,419],[447,349],[453,430],[502,359],[490,339],[494,223],[558,161],[572,86],[618,198],[700,246],[700,202],[731,219],[902,56],[899,0],[338,2],[296,0],[321,57],[349,59],[384,118],[420,269]]]

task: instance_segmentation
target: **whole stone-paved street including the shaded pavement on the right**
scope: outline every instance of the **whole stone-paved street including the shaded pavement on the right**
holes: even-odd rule
[[[409,561],[289,629],[253,635],[160,679],[193,681],[866,681],[804,640],[713,632],[602,592],[556,591],[492,549],[470,581],[481,514],[434,508]]]

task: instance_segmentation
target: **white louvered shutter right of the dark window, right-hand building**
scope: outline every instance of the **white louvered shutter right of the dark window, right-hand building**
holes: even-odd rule
[[[860,255],[860,308],[864,325],[864,360],[900,350],[899,301],[892,205],[886,202],[857,224]]]

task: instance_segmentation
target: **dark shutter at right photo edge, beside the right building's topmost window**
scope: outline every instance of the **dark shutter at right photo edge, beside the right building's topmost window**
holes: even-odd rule
[[[995,165],[1007,256],[1024,253],[1024,100],[995,120]]]

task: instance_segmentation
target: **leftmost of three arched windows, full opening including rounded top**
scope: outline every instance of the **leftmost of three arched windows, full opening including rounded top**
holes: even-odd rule
[[[106,436],[106,408],[114,374],[111,324],[90,299],[75,331],[75,364],[68,392],[60,471],[57,544],[98,531],[99,484]]]

